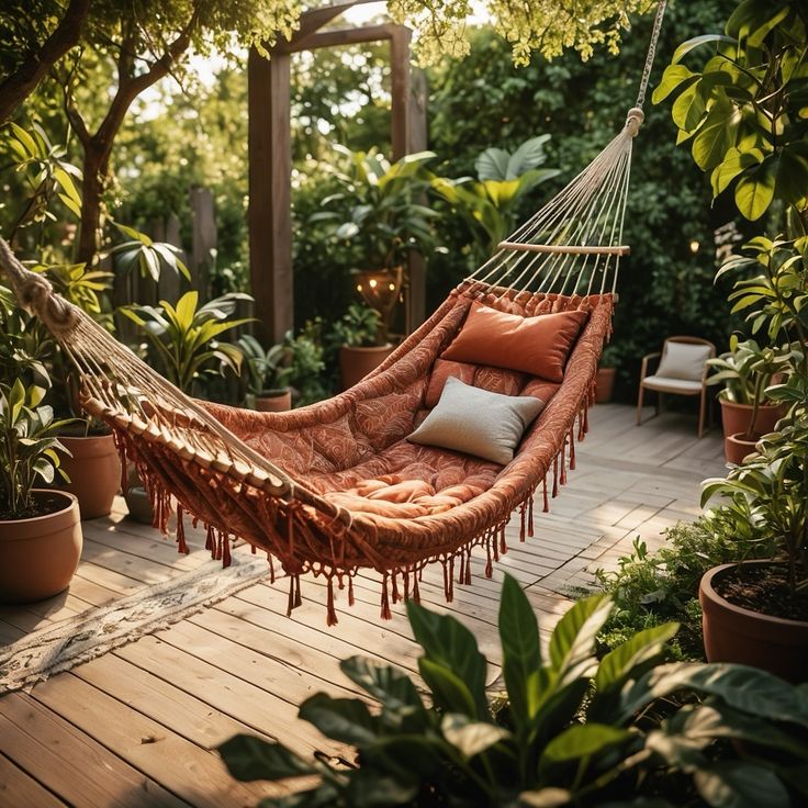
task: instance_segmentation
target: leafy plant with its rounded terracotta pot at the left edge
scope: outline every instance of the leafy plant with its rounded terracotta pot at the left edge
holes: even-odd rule
[[[18,378],[0,382],[0,602],[50,597],[70,584],[81,558],[79,506],[72,494],[36,489],[54,482],[63,422],[42,403],[45,391]]]

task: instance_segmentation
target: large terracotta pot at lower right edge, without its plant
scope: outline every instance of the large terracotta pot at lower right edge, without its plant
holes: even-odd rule
[[[772,561],[744,561],[744,565],[774,566]],[[738,564],[708,570],[698,587],[704,614],[704,650],[709,662],[740,662],[782,676],[789,682],[808,681],[808,622],[770,617],[721,597],[714,582]]]

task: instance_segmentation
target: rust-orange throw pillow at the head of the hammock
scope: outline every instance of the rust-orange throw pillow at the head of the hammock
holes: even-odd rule
[[[472,303],[460,334],[441,359],[493,364],[560,382],[587,316],[576,311],[523,317]]]

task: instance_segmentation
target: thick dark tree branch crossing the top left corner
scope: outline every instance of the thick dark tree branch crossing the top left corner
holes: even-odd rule
[[[89,8],[90,0],[70,0],[54,33],[0,82],[0,123],[9,119],[36,89],[50,66],[78,43]]]

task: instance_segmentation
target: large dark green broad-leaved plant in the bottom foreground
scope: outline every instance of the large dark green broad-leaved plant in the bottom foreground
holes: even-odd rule
[[[789,789],[808,794],[795,774],[808,761],[808,706],[797,688],[742,665],[654,666],[675,624],[642,631],[598,662],[595,637],[610,610],[603,595],[577,602],[542,660],[536,616],[506,576],[498,619],[506,693],[492,704],[487,662],[473,635],[411,601],[429,707],[405,673],[354,656],[340,667],[381,711],[319,693],[300,715],[356,747],[356,763],[308,762],[249,736],[220,752],[239,779],[319,778],[314,788],[262,806],[670,807],[689,778],[686,796],[716,807],[762,795],[766,805],[785,807]],[[678,708],[669,702],[665,715],[660,699],[682,692],[704,700]],[[759,745],[748,760],[731,750],[717,760],[725,739]]]

